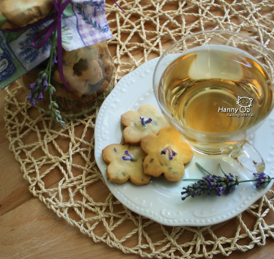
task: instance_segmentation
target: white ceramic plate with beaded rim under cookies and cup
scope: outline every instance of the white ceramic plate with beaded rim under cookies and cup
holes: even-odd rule
[[[136,186],[130,183],[116,184],[108,181],[107,165],[102,159],[102,150],[110,144],[119,144],[123,139],[121,114],[129,110],[137,111],[143,104],[152,104],[158,108],[153,95],[152,78],[158,58],[141,65],[132,73],[124,76],[114,90],[105,99],[95,125],[95,159],[110,191],[130,210],[151,218],[163,225],[171,226],[206,226],[221,223],[245,211],[260,199],[271,184],[264,190],[257,190],[253,183],[240,183],[231,194],[216,196],[189,197],[182,201],[181,192],[189,182],[172,183],[163,178],[154,178],[148,185]],[[266,174],[274,177],[274,111],[266,119],[251,139],[266,163]],[[229,157],[205,157],[195,153],[186,166],[183,179],[201,179],[206,176],[195,162],[201,164],[212,174],[221,175],[219,163],[228,174],[239,175],[239,180],[254,179],[251,172],[244,170]]]

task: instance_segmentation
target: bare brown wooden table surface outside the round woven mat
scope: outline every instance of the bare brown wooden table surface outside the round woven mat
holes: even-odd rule
[[[140,258],[95,243],[32,196],[5,137],[4,97],[5,91],[0,91],[0,258]],[[253,219],[245,222],[252,224]],[[229,234],[234,224],[238,224],[235,218],[216,226],[214,232],[222,228]],[[229,258],[273,258],[273,251],[274,240],[267,238],[266,245],[245,253],[234,251]],[[215,258],[226,257],[219,254]]]

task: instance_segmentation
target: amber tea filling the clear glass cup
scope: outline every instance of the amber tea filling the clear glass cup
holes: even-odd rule
[[[186,52],[164,71],[161,100],[175,120],[208,133],[238,131],[271,109],[273,87],[249,54],[207,45]]]

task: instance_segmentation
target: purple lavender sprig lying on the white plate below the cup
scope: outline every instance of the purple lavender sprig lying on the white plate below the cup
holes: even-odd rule
[[[256,181],[256,188],[266,188],[266,186],[271,182],[271,180],[274,179],[269,177],[269,175],[262,173],[255,173],[253,174],[256,179],[253,180],[245,180],[245,181],[238,181],[238,176],[235,176],[234,174],[230,173],[225,174],[223,172],[221,166],[221,171],[224,174],[224,177],[219,177],[215,174],[210,174],[206,169],[204,169],[201,165],[196,163],[199,168],[201,168],[203,171],[207,172],[208,175],[206,177],[202,177],[202,179],[184,179],[183,181],[197,181],[196,183],[192,183],[192,185],[188,185],[188,187],[184,187],[184,192],[181,192],[182,195],[182,201],[184,201],[188,197],[194,198],[195,196],[202,194],[208,194],[210,195],[211,192],[215,192],[217,196],[221,196],[221,194],[224,192],[225,194],[229,194],[233,190],[236,190],[238,188],[239,183],[245,183],[249,181]]]

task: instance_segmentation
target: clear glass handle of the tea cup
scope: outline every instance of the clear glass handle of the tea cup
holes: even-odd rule
[[[233,158],[241,166],[251,172],[264,172],[264,159],[262,159],[258,150],[256,150],[256,148],[254,148],[247,140],[240,142],[233,148],[223,150],[222,154]]]

